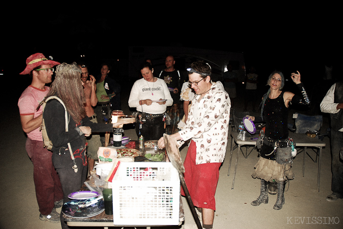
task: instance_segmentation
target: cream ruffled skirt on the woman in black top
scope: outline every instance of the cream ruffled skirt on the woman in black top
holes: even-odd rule
[[[260,157],[254,168],[252,178],[263,179],[269,182],[273,182],[273,180],[275,182],[283,182],[294,179],[292,163],[280,165],[274,160]]]

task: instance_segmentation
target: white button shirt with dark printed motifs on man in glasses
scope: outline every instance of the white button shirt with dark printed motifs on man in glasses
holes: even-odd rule
[[[228,145],[231,102],[229,94],[212,83],[209,92],[199,102],[192,100],[187,124],[179,131],[179,146],[192,139],[197,146],[196,165],[222,163]],[[194,109],[197,109],[196,111]],[[198,117],[194,117],[198,114]]]

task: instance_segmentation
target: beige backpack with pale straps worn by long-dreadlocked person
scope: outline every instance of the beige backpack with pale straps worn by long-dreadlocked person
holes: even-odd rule
[[[66,108],[66,105],[62,102],[62,100],[60,98],[58,98],[57,96],[50,96],[44,102],[42,102],[41,105],[43,107],[43,113],[44,113],[44,108],[46,106],[46,102],[51,100],[51,99],[56,99],[56,100],[58,100],[63,105],[64,110],[65,110],[66,132],[68,132],[69,118],[68,118],[67,108]],[[51,142],[51,140],[49,139],[49,137],[48,137],[48,135],[46,133],[46,126],[45,126],[44,117],[43,117],[43,121],[42,121],[42,125],[41,125],[41,128],[40,128],[40,131],[42,132],[44,146],[48,150],[51,150],[53,145],[52,145],[52,142]],[[76,163],[75,163],[75,158],[74,158],[74,155],[72,153],[70,143],[68,143],[68,147],[69,147],[69,152],[70,152],[71,159],[72,159],[73,164],[74,164],[74,166],[72,168],[74,169],[75,172],[77,172],[78,169],[77,169],[77,166],[76,166]]]

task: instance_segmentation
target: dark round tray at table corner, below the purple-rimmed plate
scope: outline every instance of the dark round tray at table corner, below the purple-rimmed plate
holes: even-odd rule
[[[104,201],[101,199],[97,203],[92,204],[91,206],[85,208],[79,208],[78,206],[81,204],[86,204],[87,201],[94,200],[95,198],[87,199],[87,200],[72,200],[67,203],[64,203],[62,206],[63,214],[77,219],[84,219],[88,217],[92,217],[95,215],[100,214],[105,210]]]

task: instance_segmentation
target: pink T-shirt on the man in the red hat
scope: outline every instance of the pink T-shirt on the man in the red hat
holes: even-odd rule
[[[28,86],[23,91],[18,101],[20,115],[33,115],[33,118],[41,115],[43,112],[43,107],[40,107],[39,110],[37,110],[37,107],[44,100],[49,90],[50,87],[48,86],[45,86],[44,90],[38,89],[31,85]],[[39,129],[40,128],[37,128],[27,133],[27,137],[32,140],[43,141],[42,133]]]

